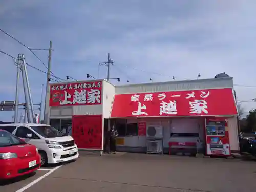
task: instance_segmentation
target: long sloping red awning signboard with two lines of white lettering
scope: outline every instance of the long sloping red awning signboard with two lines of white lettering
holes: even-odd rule
[[[115,95],[111,117],[237,114],[233,90],[225,88]]]

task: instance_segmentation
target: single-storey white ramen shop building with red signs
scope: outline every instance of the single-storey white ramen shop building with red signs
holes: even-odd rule
[[[205,148],[214,147],[208,149],[212,153],[226,142],[231,152],[239,151],[232,77],[125,86],[105,80],[54,83],[47,100],[47,123],[65,132],[72,125],[69,134],[81,149],[102,152],[104,133],[114,125],[121,151],[195,151],[199,139]],[[207,125],[212,119],[226,125]],[[206,133],[213,132],[210,143]]]

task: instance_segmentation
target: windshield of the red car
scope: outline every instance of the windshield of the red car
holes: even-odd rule
[[[10,132],[0,131],[0,147],[22,145],[22,144],[25,144],[25,142],[20,140],[15,135],[11,134]]]

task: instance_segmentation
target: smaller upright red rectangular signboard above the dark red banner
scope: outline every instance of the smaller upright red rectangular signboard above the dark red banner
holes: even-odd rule
[[[52,84],[50,106],[101,104],[102,81]]]

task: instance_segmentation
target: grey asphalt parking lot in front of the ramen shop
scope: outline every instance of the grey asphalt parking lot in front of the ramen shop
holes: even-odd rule
[[[256,162],[236,159],[117,153],[82,155],[75,162],[45,169],[0,186],[0,191],[249,192],[256,188]]]

